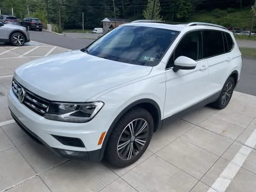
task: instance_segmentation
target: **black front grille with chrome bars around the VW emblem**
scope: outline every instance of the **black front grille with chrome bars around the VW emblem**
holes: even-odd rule
[[[19,90],[21,88],[25,91],[24,101],[22,103],[35,113],[43,116],[50,104],[50,101],[30,92],[13,78],[12,91],[17,98],[19,98]]]

